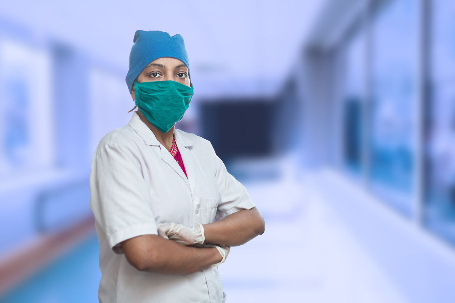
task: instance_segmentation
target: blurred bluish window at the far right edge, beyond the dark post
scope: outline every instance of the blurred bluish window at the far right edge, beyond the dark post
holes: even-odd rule
[[[433,1],[426,224],[455,241],[455,2]]]

